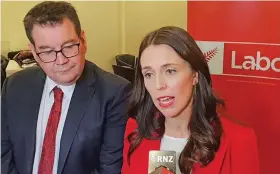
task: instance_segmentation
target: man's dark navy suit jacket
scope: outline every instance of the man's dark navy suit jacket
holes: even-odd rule
[[[2,91],[1,173],[31,174],[45,73],[28,68]],[[86,62],[67,113],[58,174],[121,173],[129,82]]]

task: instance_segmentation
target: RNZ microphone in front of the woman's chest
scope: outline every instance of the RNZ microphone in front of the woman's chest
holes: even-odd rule
[[[149,152],[149,174],[175,174],[176,152],[151,150]]]

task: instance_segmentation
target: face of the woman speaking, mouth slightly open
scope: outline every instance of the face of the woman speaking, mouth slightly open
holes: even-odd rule
[[[184,114],[192,105],[197,73],[168,45],[147,47],[140,59],[145,87],[165,117]]]

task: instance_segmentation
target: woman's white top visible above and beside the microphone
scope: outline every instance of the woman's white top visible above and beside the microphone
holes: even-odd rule
[[[180,174],[179,157],[188,142],[188,138],[174,138],[163,135],[160,142],[160,150],[176,152],[176,174]]]

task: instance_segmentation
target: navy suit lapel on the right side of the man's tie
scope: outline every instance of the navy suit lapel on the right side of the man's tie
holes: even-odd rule
[[[57,170],[58,174],[62,173],[72,142],[84,116],[84,112],[94,94],[94,83],[95,76],[93,67],[90,67],[86,63],[84,72],[76,83],[64,124],[60,141],[60,153]]]

